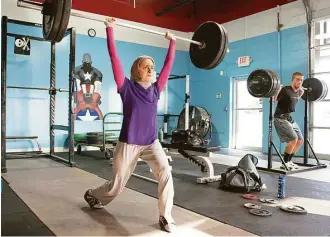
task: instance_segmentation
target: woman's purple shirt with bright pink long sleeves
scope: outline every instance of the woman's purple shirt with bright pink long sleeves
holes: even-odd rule
[[[115,47],[113,28],[107,27],[106,33],[114,79],[123,102],[123,124],[119,141],[141,146],[150,145],[157,138],[157,104],[173,66],[176,42],[170,41],[157,82],[145,89],[125,77]]]

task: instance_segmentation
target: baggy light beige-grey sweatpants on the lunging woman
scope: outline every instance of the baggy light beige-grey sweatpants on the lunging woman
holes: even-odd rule
[[[167,156],[158,139],[148,146],[118,142],[113,157],[113,179],[92,189],[92,195],[103,205],[110,203],[124,189],[139,158],[150,166],[158,181],[159,214],[164,216],[168,222],[172,221],[171,211],[174,198],[172,173]]]

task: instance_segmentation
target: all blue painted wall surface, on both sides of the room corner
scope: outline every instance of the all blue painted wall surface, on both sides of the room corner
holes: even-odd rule
[[[41,36],[40,29],[9,25],[9,32]],[[261,35],[246,40],[232,42],[229,45],[230,52],[223,62],[214,70],[206,71],[195,68],[189,59],[189,54],[177,51],[172,74],[190,74],[191,77],[191,102],[193,105],[206,108],[212,115],[213,140],[212,144],[229,146],[230,138],[230,113],[232,77],[249,74],[257,68],[274,70],[281,76],[283,84],[290,83],[290,76],[295,71],[307,73],[307,42],[306,28],[299,26],[280,33],[280,51],[278,54],[277,32]],[[56,48],[56,76],[57,87],[68,88],[68,38],[57,44]],[[15,55],[14,39],[8,37],[8,64],[7,84],[21,86],[49,86],[50,43],[31,42],[32,52],[30,56]],[[118,53],[124,66],[125,74],[129,75],[133,60],[142,54],[148,54],[156,60],[156,70],[160,71],[167,49],[147,45],[133,44],[117,41]],[[107,112],[121,111],[121,101],[116,93],[115,83],[111,70],[110,60],[106,49],[106,39],[90,38],[85,35],[77,35],[76,66],[81,64],[84,53],[92,55],[93,65],[103,73],[102,104],[100,108],[103,114]],[[249,55],[253,62],[249,67],[238,68],[237,58]],[[279,59],[281,59],[279,61]],[[220,71],[224,74],[220,75]],[[169,82],[169,113],[179,114],[184,106],[185,80],[173,80]],[[216,99],[216,94],[221,93],[222,98]],[[56,97],[56,123],[67,124],[68,97],[65,93]],[[159,113],[164,108],[164,93],[159,102]],[[267,151],[268,136],[268,111],[267,100],[263,101],[263,151]],[[297,106],[294,118],[303,131],[303,101]],[[176,126],[176,119],[172,119],[169,130]],[[159,125],[162,119],[159,119]],[[76,121],[75,133],[88,131],[101,131],[101,121]],[[37,135],[41,145],[49,147],[49,95],[43,91],[7,90],[7,136]],[[56,146],[63,147],[66,144],[66,133],[56,132]],[[274,141],[280,147],[276,133]],[[35,145],[24,142],[7,142],[8,149],[30,148]],[[284,146],[281,146],[283,150]],[[302,149],[300,150],[300,153]]]

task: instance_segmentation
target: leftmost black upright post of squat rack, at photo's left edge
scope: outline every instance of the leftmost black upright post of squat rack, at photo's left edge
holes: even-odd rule
[[[6,165],[6,80],[7,80],[7,22],[1,19],[1,173],[7,172]]]

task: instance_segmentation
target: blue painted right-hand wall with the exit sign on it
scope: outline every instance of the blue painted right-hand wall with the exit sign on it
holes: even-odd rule
[[[278,44],[280,42],[280,44]],[[278,49],[280,48],[280,54]],[[223,62],[212,71],[196,69],[190,64],[192,75],[191,94],[192,103],[197,106],[205,107],[212,114],[213,121],[213,143],[224,148],[229,147],[230,137],[230,113],[232,96],[232,77],[246,75],[257,68],[270,69],[278,73],[281,83],[289,85],[291,75],[295,71],[300,71],[307,75],[307,56],[308,47],[306,41],[306,27],[298,26],[278,33],[273,32],[245,40],[232,42],[229,44],[230,52],[226,55]],[[237,66],[239,56],[251,56],[253,62],[248,67]],[[220,75],[223,71],[223,75]],[[221,93],[222,98],[216,99],[216,93]],[[274,108],[275,109],[275,108]],[[304,106],[301,100],[293,114],[303,132]],[[269,102],[263,100],[263,147],[267,152],[268,139],[268,116]],[[248,125],[247,125],[248,126]],[[279,143],[276,132],[273,133],[277,147],[283,151],[284,145]],[[302,154],[300,149],[299,154]]]

